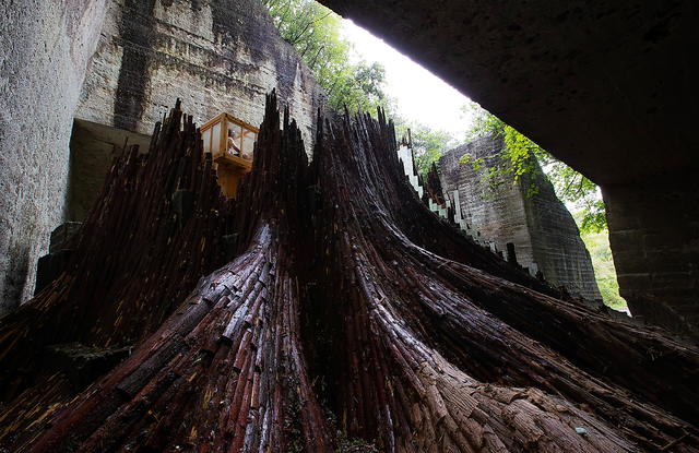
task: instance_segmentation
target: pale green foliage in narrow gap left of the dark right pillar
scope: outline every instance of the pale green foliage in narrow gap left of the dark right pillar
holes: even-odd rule
[[[580,219],[580,216],[576,216]],[[581,235],[582,240],[592,258],[597,287],[602,294],[604,303],[615,310],[626,308],[626,300],[619,296],[619,285],[616,281],[616,270],[612,260],[609,249],[609,238],[606,229],[600,233],[588,233]]]

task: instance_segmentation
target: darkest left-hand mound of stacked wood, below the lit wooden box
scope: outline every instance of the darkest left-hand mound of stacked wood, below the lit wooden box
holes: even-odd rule
[[[174,206],[178,191],[190,199],[185,212]],[[224,263],[220,238],[227,224],[211,158],[178,102],[156,126],[147,154],[125,146],[112,163],[92,212],[64,246],[73,249],[64,273],[0,319],[0,439],[17,438],[32,412],[74,395],[60,370],[46,368],[48,346],[144,342]]]

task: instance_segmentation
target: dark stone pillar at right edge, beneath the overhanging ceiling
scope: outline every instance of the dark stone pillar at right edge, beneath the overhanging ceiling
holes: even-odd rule
[[[687,168],[603,189],[619,293],[633,314],[699,338],[699,180]]]

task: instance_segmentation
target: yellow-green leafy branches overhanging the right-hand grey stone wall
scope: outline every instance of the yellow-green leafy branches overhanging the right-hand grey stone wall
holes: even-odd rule
[[[521,134],[517,129],[506,124],[495,115],[485,110],[476,103],[462,107],[465,112],[471,112],[474,126],[466,132],[466,140],[476,136],[498,135],[505,139],[505,147],[499,153],[498,165],[488,169],[485,181],[489,186],[497,186],[506,177],[511,177],[517,183],[524,174],[535,176],[536,162],[546,168],[546,177],[553,183],[556,195],[564,202],[573,204],[582,212],[579,217],[581,233],[599,233],[606,228],[604,202],[597,186],[583,175],[573,170],[562,162],[556,159],[536,143]],[[483,162],[473,156],[465,155],[461,159],[477,169]],[[532,184],[528,195],[536,193],[538,188]]]

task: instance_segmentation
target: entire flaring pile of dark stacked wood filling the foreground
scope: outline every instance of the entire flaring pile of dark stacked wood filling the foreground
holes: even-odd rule
[[[181,116],[171,115],[166,124]],[[189,124],[158,132],[149,159],[159,160],[182,131],[197,148]],[[431,214],[402,174],[381,112],[378,120],[345,115],[342,128],[319,121],[310,163],[304,150],[272,94],[252,172],[229,216],[220,198],[202,195],[217,193],[201,186],[200,178],[212,180],[209,160],[178,165],[176,175],[197,175],[190,181],[199,188],[188,190],[199,206],[220,210],[220,223],[198,211],[210,220],[198,226],[205,236],[190,231],[200,254],[187,240],[170,251],[188,250],[217,270],[169,315],[123,299],[132,305],[123,310],[152,331],[140,327],[131,356],[72,401],[60,375],[23,378],[17,389],[25,390],[0,409],[0,446],[332,452],[356,440],[387,452],[699,452],[696,348],[570,300]],[[164,172],[118,174],[105,187],[138,182],[162,199],[183,187],[162,184]],[[71,247],[107,228],[132,240],[141,235],[133,233],[141,217],[127,206],[105,202],[95,217],[105,222],[86,223]],[[132,233],[109,226],[107,213],[133,222]],[[227,264],[217,246],[204,252],[201,242],[223,234],[238,235],[238,255]],[[147,250],[120,257],[140,262]],[[143,275],[119,275],[123,294],[150,287]],[[96,277],[64,276],[32,302],[34,311],[3,319],[0,360],[27,344],[38,349],[17,329],[34,329],[42,313],[94,312],[73,331],[98,336],[93,324],[115,309],[94,299],[69,309],[61,296],[98,286]],[[50,396],[37,406],[31,395],[42,392]]]

